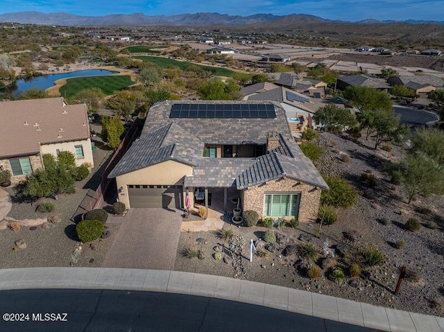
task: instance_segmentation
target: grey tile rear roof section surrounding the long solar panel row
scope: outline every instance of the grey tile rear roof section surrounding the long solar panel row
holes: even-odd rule
[[[290,128],[285,111],[278,103],[275,107],[275,119],[170,119],[171,106],[174,103],[192,104],[257,104],[257,101],[164,101],[151,107],[148,112],[142,134],[151,132],[173,121],[187,132],[206,144],[242,144],[246,142],[265,144],[268,132],[279,130],[289,134]]]

